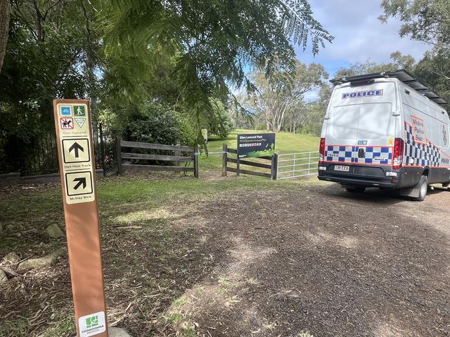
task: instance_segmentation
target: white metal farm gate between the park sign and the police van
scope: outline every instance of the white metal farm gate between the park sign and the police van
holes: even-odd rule
[[[290,179],[316,175],[318,173],[318,151],[282,153],[278,155],[276,179]]]

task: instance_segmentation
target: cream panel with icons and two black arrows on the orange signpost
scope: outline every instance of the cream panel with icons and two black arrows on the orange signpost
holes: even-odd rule
[[[67,204],[92,202],[93,163],[91,155],[91,130],[87,122],[86,104],[58,104],[60,116],[60,142],[62,149],[62,171],[66,186]],[[75,123],[73,123],[73,117]]]

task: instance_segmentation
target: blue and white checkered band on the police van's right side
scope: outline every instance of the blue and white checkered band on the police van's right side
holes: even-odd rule
[[[417,143],[413,137],[413,127],[405,122],[406,145],[405,162],[409,166],[439,166],[441,154],[439,148],[431,142]]]

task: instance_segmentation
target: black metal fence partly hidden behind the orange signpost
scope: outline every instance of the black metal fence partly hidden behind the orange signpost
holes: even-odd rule
[[[116,136],[105,131],[102,124],[93,126],[92,139],[96,155],[96,168],[105,173],[117,167]],[[39,175],[59,171],[55,133],[40,135],[37,143],[28,153],[21,175]]]

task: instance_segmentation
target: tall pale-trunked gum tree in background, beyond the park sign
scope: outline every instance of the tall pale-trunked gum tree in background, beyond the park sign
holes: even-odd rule
[[[305,64],[296,61],[296,69],[283,69],[281,64],[270,76],[254,72],[251,79],[258,91],[246,100],[246,105],[266,118],[267,130],[280,131],[287,113],[298,114],[303,95],[319,88],[328,74],[320,64]]]

